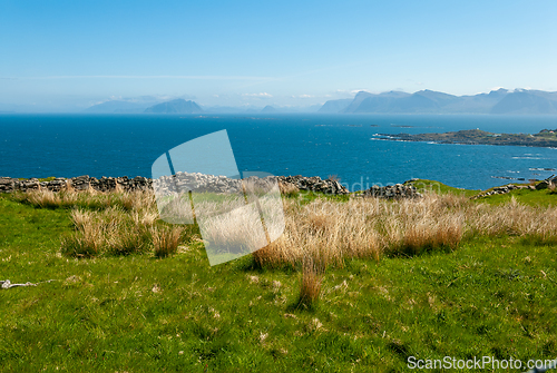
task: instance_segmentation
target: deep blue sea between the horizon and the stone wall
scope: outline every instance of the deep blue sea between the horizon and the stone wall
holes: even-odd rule
[[[414,177],[485,189],[557,174],[554,148],[373,139],[471,128],[534,134],[557,128],[557,116],[0,115],[0,176],[150,177],[166,150],[222,129],[240,170],[335,175],[351,190]]]

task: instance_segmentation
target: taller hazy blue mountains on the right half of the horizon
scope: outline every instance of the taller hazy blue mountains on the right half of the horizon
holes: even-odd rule
[[[453,96],[432,90],[416,94],[360,91],[348,101],[326,101],[319,112],[377,114],[557,114],[557,92],[492,90],[475,96]]]

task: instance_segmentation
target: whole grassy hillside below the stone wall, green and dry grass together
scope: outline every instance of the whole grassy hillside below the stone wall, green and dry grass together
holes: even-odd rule
[[[472,202],[437,188],[416,202],[290,196],[283,239],[214,267],[195,227],[176,237],[149,218],[148,196],[1,196],[0,279],[38,284],[0,291],[0,370],[402,372],[409,356],[556,357],[557,195]]]

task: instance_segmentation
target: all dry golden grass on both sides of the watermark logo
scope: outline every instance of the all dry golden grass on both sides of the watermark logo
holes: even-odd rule
[[[20,198],[40,207],[75,208],[71,218],[76,236],[62,245],[72,255],[128,254],[150,248],[165,256],[178,245],[178,228],[155,228],[158,210],[152,192],[36,190]],[[212,216],[226,207],[219,204],[197,203],[196,210]],[[224,210],[234,209],[232,205],[228,207]],[[267,224],[267,233],[278,238],[253,253],[260,266],[287,264],[300,267],[305,257],[314,261],[319,257],[324,268],[342,266],[344,259],[351,257],[380,259],[382,255],[455,249],[462,239],[473,235],[515,235],[557,243],[557,209],[524,205],[514,198],[494,206],[470,202],[463,196],[427,193],[420,199],[395,202],[354,198],[341,203],[317,198],[302,204],[300,199],[285,198],[283,207],[283,235],[278,237],[280,229],[276,230],[282,226],[282,217],[268,217],[280,222]],[[213,237],[215,242],[232,239],[229,227],[234,225],[224,223],[222,229],[212,229],[223,236]],[[270,227],[276,232],[271,232]]]

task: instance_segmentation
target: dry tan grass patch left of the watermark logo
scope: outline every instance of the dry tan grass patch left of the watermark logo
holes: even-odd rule
[[[41,206],[39,203],[42,203],[47,207],[43,200],[49,200],[48,207],[72,207],[70,217],[75,233],[61,243],[61,253],[68,256],[95,257],[153,252],[157,257],[165,257],[176,253],[184,241],[183,226],[168,227],[158,223],[154,197],[147,192],[62,192],[53,194],[53,198],[50,194],[40,192],[29,194],[26,202],[36,206]],[[71,204],[65,200],[71,200]]]

